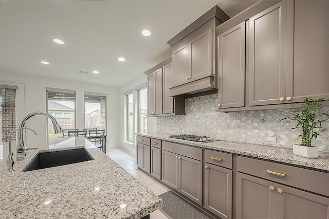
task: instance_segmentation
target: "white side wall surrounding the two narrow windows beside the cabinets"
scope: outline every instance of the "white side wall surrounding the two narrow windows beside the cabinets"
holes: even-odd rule
[[[136,145],[126,142],[125,141],[125,130],[124,130],[124,124],[125,124],[125,95],[124,93],[127,92],[130,89],[133,89],[133,107],[134,112],[137,114],[137,92],[135,90],[135,87],[145,83],[147,81],[147,76],[145,74],[140,74],[137,78],[131,80],[130,82],[126,83],[122,87],[120,87],[119,91],[119,99],[120,99],[120,147],[131,152],[136,152]],[[136,117],[134,118],[134,121],[136,121]],[[136,122],[135,122],[136,123]],[[135,130],[134,133],[136,133],[136,124],[135,124]],[[148,117],[148,132],[156,132],[156,118],[155,117]],[[136,136],[134,135],[134,142],[135,142]]]

